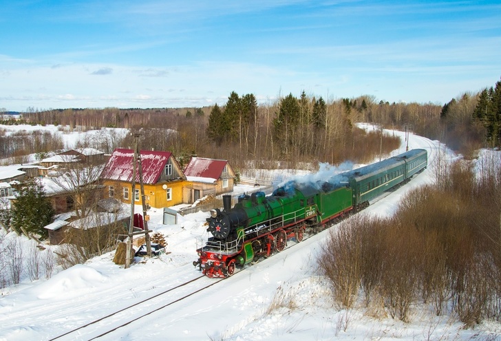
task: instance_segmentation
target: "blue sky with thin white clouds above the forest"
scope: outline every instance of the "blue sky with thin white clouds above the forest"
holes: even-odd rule
[[[497,2],[0,0],[0,108],[445,104],[500,80]]]

